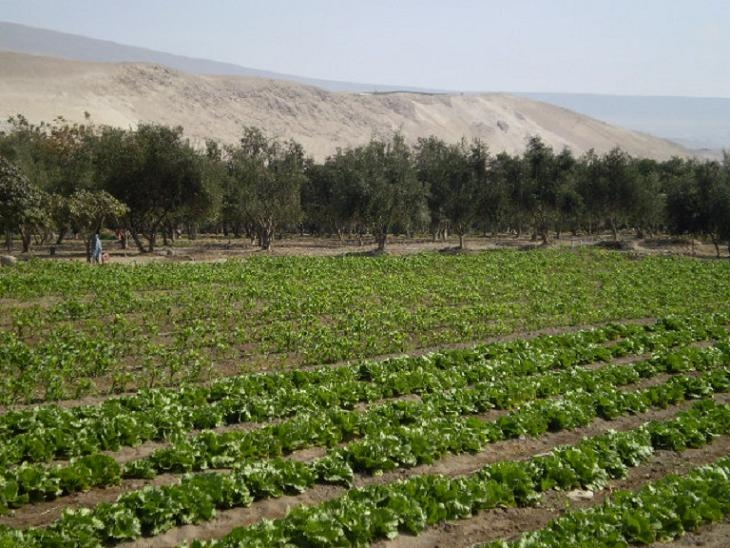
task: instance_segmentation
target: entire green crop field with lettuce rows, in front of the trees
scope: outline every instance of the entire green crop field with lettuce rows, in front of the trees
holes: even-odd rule
[[[730,537],[728,261],[35,260],[0,373],[0,547]]]

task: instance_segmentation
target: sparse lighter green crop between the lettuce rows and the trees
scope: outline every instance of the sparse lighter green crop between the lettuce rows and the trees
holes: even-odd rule
[[[0,336],[24,356],[9,357],[1,401],[196,382],[220,363],[276,369],[545,326],[727,312],[730,303],[727,262],[587,249],[109,266],[34,261],[0,271]],[[216,420],[201,416],[201,427]]]

